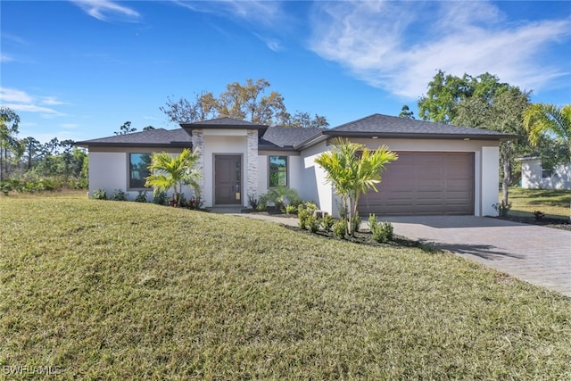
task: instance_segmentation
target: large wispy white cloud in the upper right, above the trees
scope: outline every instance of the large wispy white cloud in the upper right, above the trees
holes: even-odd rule
[[[490,72],[522,89],[550,86],[568,69],[543,59],[571,37],[571,20],[509,23],[486,2],[317,3],[310,49],[394,95],[417,98],[435,70]]]

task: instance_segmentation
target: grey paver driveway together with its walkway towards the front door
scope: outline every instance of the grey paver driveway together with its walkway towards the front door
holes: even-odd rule
[[[235,214],[235,213],[232,213]],[[235,215],[297,226],[297,219]],[[571,297],[571,231],[474,216],[389,217],[394,234]],[[363,222],[366,225],[366,221]]]

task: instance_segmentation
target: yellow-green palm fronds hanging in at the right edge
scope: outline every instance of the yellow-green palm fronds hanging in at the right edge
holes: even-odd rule
[[[565,141],[571,150],[571,104],[532,104],[524,112],[524,125],[532,145],[550,134]]]

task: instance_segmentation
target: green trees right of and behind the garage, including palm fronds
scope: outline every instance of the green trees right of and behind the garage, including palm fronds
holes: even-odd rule
[[[500,144],[502,207],[509,208],[508,187],[521,178],[517,158],[535,154],[551,169],[571,160],[571,104],[532,104],[531,93],[488,72],[458,77],[437,70],[418,99],[422,120],[517,136]],[[406,104],[400,116],[415,118]]]

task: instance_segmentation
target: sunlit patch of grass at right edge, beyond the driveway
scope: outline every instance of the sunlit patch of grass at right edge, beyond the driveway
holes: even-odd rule
[[[551,218],[571,216],[571,191],[568,190],[509,188],[509,202],[512,203],[509,214],[514,216],[533,217],[534,211],[542,211]]]

